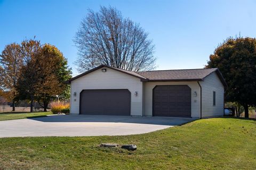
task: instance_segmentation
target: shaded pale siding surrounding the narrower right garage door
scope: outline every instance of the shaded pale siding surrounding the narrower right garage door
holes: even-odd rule
[[[153,115],[153,89],[157,85],[188,85],[191,88],[191,117],[200,117],[200,87],[197,82],[145,82],[146,116]]]

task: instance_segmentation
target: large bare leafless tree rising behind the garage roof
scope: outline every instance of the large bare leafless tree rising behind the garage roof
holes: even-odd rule
[[[148,33],[113,7],[101,7],[99,12],[89,10],[74,42],[79,72],[100,64],[129,71],[155,68],[154,45]]]

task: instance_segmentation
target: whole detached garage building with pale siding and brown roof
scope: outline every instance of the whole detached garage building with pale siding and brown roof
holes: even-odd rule
[[[222,116],[227,84],[219,69],[132,72],[106,65],[68,80],[70,113]]]

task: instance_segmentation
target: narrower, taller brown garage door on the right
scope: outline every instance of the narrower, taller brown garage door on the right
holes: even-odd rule
[[[156,86],[153,116],[191,117],[191,89],[186,85]]]

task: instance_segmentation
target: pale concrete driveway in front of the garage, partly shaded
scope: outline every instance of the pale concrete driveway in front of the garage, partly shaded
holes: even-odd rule
[[[51,115],[0,121],[0,138],[141,134],[193,121],[192,118]]]

